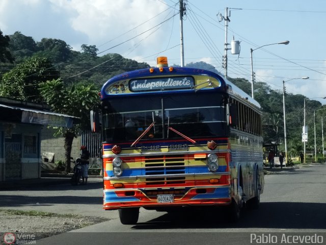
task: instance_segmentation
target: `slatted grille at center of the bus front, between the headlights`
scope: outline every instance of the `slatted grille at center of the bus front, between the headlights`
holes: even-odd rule
[[[146,185],[170,185],[185,183],[185,177],[178,175],[185,174],[184,155],[170,156],[145,156]],[[157,178],[155,178],[157,175]],[[168,175],[168,177],[162,177]],[[175,177],[173,175],[176,175]]]

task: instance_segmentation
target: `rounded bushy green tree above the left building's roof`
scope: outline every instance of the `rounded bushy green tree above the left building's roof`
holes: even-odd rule
[[[11,99],[42,102],[37,85],[49,79],[58,79],[59,72],[46,58],[31,57],[3,75],[0,96]]]

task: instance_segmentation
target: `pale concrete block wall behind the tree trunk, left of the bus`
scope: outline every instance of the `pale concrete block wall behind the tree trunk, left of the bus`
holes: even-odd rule
[[[43,152],[54,153],[53,161],[65,161],[65,139],[63,137],[53,136],[55,130],[42,128],[41,131],[41,156]],[[80,137],[74,138],[72,141],[71,157],[74,159],[79,157],[80,154]],[[44,162],[44,159],[42,159]],[[50,165],[50,164],[49,164]]]

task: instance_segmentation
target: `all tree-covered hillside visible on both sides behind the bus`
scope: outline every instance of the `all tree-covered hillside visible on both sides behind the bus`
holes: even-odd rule
[[[95,45],[83,44],[80,51],[73,51],[64,40],[42,38],[36,42],[20,32],[3,36],[0,31],[0,80],[1,84],[19,83],[21,77],[29,78],[29,83],[42,83],[61,78],[65,85],[95,84],[100,89],[104,82],[125,71],[150,67],[126,59],[119,54],[98,56]],[[220,74],[212,65],[205,62],[186,64],[211,70]],[[221,75],[221,74],[220,74]],[[251,94],[251,83],[242,78],[228,78],[236,86]],[[0,84],[0,85],[1,85]],[[255,99],[263,111],[263,136],[265,142],[275,141],[284,146],[283,90],[273,90],[267,83],[254,85]],[[281,89],[281,88],[280,88]],[[304,120],[304,95],[286,94],[286,122],[288,149],[293,155],[302,151],[301,133]],[[307,99],[307,98],[306,98]],[[27,98],[28,100],[28,98]],[[307,101],[308,126],[313,127],[313,110],[321,108],[317,101]],[[319,127],[319,126],[318,126]],[[311,134],[312,135],[312,134]],[[320,136],[320,135],[319,135]],[[309,138],[307,149],[313,148],[313,137]],[[283,149],[284,150],[284,149]]]

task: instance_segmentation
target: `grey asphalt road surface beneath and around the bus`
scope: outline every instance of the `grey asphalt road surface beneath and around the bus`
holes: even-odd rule
[[[141,209],[137,225],[121,225],[117,211],[101,209],[99,181],[93,179],[87,186],[65,184],[2,191],[0,207],[110,218],[107,222],[38,240],[37,244],[258,244],[253,239],[255,235],[256,238],[269,235],[272,239],[275,235],[279,237],[276,244],[284,244],[282,234],[291,233],[319,234],[323,244],[326,243],[326,164],[265,176],[259,210],[243,210],[236,224],[227,222],[224,210],[170,215]]]

